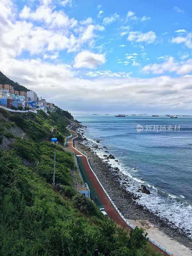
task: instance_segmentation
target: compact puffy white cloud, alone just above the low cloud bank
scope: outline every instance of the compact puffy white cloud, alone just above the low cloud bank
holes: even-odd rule
[[[93,69],[100,64],[104,64],[106,59],[104,54],[95,54],[90,51],[82,51],[76,55],[74,61],[74,68]]]

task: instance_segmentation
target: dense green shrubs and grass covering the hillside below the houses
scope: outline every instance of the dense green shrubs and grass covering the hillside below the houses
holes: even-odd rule
[[[27,132],[28,139],[16,138],[11,150],[0,150],[0,255],[160,255],[147,243],[143,229],[135,228],[128,233],[105,218],[90,199],[72,187],[71,153],[60,145],[34,139],[29,121],[34,122],[31,127],[41,137],[40,127],[45,125],[42,129],[46,132],[46,127],[55,126],[53,119],[42,113],[20,117],[16,119],[6,112],[1,117],[5,132],[17,124]],[[55,189],[52,188],[54,148]]]

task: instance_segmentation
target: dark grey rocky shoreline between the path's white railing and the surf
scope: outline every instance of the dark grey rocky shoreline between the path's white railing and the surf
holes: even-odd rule
[[[84,128],[86,126],[81,124],[73,127],[73,130],[79,136],[78,139],[74,140],[75,147],[87,156],[93,171],[124,217],[130,220],[148,220],[172,239],[192,249],[192,240],[176,227],[174,223],[166,218],[156,216],[153,212],[135,201],[139,196],[127,191],[124,185],[129,182],[129,177],[119,172],[118,168],[115,170],[110,164],[96,155],[94,148],[90,148],[86,143],[87,139],[83,136]],[[109,153],[106,152],[106,155],[109,155]],[[189,230],[187,232],[190,234]]]

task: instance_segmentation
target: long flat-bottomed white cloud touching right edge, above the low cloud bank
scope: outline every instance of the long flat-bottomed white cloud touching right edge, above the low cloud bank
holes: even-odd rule
[[[169,57],[161,64],[149,64],[142,68],[144,73],[163,74],[164,72],[176,72],[179,75],[186,75],[192,71],[192,59],[186,61],[175,61]]]

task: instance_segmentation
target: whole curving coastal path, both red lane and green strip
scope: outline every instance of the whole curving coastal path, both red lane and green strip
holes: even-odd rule
[[[76,150],[76,148],[73,147],[73,139],[76,139],[78,137],[76,132],[71,130],[71,127],[73,125],[74,124],[69,125],[67,127],[68,131],[70,131],[72,134],[72,137],[67,139],[67,147],[69,147],[74,152],[74,154],[78,157],[78,160],[81,164],[81,172],[84,171],[83,178],[86,181],[86,183],[88,184],[88,186],[90,187],[91,196],[93,195],[93,197],[95,198],[95,202],[99,206],[99,208],[105,208],[106,212],[108,213],[108,215],[110,216],[110,218],[112,220],[114,220],[115,222],[118,222],[118,225],[120,225],[121,227],[124,227],[127,230],[131,230],[132,228],[129,227],[127,225],[127,223],[124,221],[124,219],[120,216],[120,214],[117,212],[114,205],[109,200],[105,191],[101,187],[99,181],[97,180],[96,176],[92,172],[92,169],[88,163],[86,156],[84,156],[81,152],[79,152],[78,150]],[[84,169],[84,170],[82,170],[82,169]],[[152,242],[150,242],[150,241],[148,241],[148,242],[153,247],[155,247],[158,252],[163,253],[164,256],[170,255],[167,252],[164,252],[162,249],[160,249],[158,246],[156,246]]]

